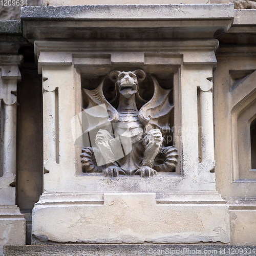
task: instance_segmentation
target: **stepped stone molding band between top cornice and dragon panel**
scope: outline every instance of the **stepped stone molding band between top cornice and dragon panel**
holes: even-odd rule
[[[42,65],[74,65],[80,72],[90,66],[111,65],[213,65],[216,67],[216,39],[170,41],[35,41],[38,73]],[[79,49],[79,51],[77,50]],[[54,52],[52,52],[54,50]]]

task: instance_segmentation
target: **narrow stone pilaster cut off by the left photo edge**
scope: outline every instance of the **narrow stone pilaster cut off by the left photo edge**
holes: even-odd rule
[[[4,33],[0,40],[0,255],[4,245],[25,244],[26,232],[25,216],[15,205],[16,89],[22,56],[17,54],[18,36],[10,34],[18,34],[18,26],[18,22],[2,22],[0,29]]]

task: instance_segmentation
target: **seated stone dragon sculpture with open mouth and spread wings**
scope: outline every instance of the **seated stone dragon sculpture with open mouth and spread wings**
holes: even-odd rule
[[[83,89],[89,101],[88,108],[105,104],[109,121],[112,125],[115,124],[118,141],[130,139],[132,144],[129,152],[115,160],[117,136],[108,129],[99,129],[95,137],[96,147],[82,148],[83,172],[102,172],[106,177],[119,175],[148,177],[157,175],[157,172],[175,171],[178,161],[177,150],[174,145],[163,146],[164,133],[161,132],[163,127],[166,129],[169,115],[174,110],[174,105],[168,100],[171,89],[161,88],[156,78],[150,76],[154,84],[153,97],[138,110],[135,96],[137,94],[137,97],[140,97],[139,82],[145,77],[143,70],[129,72],[115,70],[109,74],[109,78],[115,82],[115,93],[119,93],[117,109],[103,94],[104,80],[94,90]],[[101,154],[102,159],[104,158],[106,165],[96,165],[95,150]],[[157,164],[155,160],[160,154],[163,160]]]

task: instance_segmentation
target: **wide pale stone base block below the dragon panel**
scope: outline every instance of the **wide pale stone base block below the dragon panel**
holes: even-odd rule
[[[32,243],[230,242],[216,191],[44,193],[33,209]]]

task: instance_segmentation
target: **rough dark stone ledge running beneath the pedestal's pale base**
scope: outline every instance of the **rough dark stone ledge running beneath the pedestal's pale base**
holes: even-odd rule
[[[240,251],[240,253],[236,253]],[[150,255],[241,255],[248,256],[248,251],[256,250],[255,246],[230,245],[23,245],[5,246],[4,256],[150,256]],[[232,253],[233,252],[233,253]],[[236,254],[235,254],[236,253]],[[254,255],[251,254],[250,255]]]

